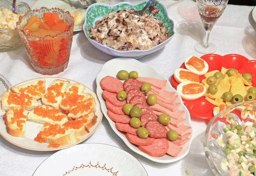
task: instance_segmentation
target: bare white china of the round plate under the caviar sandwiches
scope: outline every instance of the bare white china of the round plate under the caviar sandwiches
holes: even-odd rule
[[[30,79],[30,80],[27,80],[25,82],[21,82],[17,85],[23,85],[23,84],[26,84],[28,82],[36,81],[38,79],[41,79],[41,78]],[[58,78],[58,77],[46,77],[46,84],[45,84],[46,89],[48,88],[50,83],[55,79],[70,81],[71,84],[77,83],[76,81],[73,81],[73,80],[70,80],[70,79],[64,79],[64,78]],[[15,86],[17,86],[17,85],[15,85]],[[92,128],[90,128],[90,133],[87,133],[84,136],[79,136],[78,137],[79,141],[70,143],[68,145],[60,146],[59,148],[48,148],[47,147],[49,145],[48,143],[39,143],[39,142],[34,141],[35,137],[37,136],[37,134],[39,133],[39,131],[40,131],[40,129],[43,125],[39,124],[39,123],[35,123],[35,122],[29,122],[29,121],[26,122],[26,132],[25,132],[25,135],[24,135],[23,138],[11,136],[7,133],[6,125],[3,121],[3,115],[5,114],[5,112],[3,112],[1,110],[0,110],[0,135],[3,136],[4,139],[11,142],[12,144],[17,145],[18,147],[26,148],[28,150],[37,150],[37,151],[60,150],[60,149],[64,149],[64,148],[68,148],[68,147],[77,145],[80,142],[83,142],[85,139],[90,137],[97,130],[97,128],[99,127],[99,125],[102,121],[102,116],[103,116],[101,108],[100,108],[99,99],[97,98],[96,94],[88,87],[86,87],[85,92],[92,94],[92,96],[94,97],[94,99],[96,101],[96,112],[95,112],[95,114],[98,117],[97,117],[96,124],[93,125]],[[41,100],[39,100],[39,105],[41,105],[41,104],[42,104]]]

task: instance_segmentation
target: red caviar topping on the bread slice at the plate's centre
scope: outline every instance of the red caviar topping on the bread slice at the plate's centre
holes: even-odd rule
[[[37,106],[34,108],[34,114],[37,116],[41,116],[43,118],[52,119],[53,121],[61,121],[66,116],[64,114],[59,115],[61,113],[61,110],[59,109],[49,109],[49,106],[46,108],[43,108],[41,106]]]

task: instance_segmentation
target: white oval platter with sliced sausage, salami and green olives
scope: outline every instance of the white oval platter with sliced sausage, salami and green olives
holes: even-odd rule
[[[117,73],[121,70],[126,71],[123,71],[123,75],[126,76],[122,78],[125,80],[117,77]],[[128,78],[128,73],[131,71],[137,73],[132,72],[134,74]],[[143,93],[145,90],[141,88],[143,83],[151,85],[150,91],[147,90],[145,94]],[[117,58],[103,65],[96,78],[96,84],[103,114],[113,131],[131,150],[160,163],[175,162],[186,156],[193,136],[189,111],[165,77],[149,65],[137,60]],[[119,91],[125,91],[127,96],[125,101],[118,99]],[[154,105],[149,105],[152,103],[148,103],[148,97],[156,97]],[[130,105],[126,106],[127,103]],[[124,105],[125,111],[123,111]],[[127,108],[129,106],[138,108],[133,111]],[[133,114],[130,114],[132,111]],[[166,114],[171,119],[167,121],[168,125],[166,121],[159,120],[160,115],[164,117]],[[131,116],[135,117],[136,121],[133,127],[130,125]],[[136,117],[139,117],[140,121]],[[170,130],[177,132],[176,140],[172,138],[175,141],[167,137]]]

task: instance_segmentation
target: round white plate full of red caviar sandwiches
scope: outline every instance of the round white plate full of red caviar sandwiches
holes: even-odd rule
[[[60,150],[79,144],[102,121],[96,94],[70,79],[31,79],[13,86],[0,99],[0,135],[29,150]]]

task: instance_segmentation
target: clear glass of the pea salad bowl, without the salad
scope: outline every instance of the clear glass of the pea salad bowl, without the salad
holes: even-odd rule
[[[214,116],[207,125],[204,136],[204,153],[208,164],[216,176],[230,176],[230,170],[225,171],[221,168],[222,159],[227,159],[222,148],[216,139],[223,135],[224,143],[227,142],[226,133],[223,131],[223,125],[242,125],[243,122],[256,122],[256,100],[250,102],[241,102],[232,105],[219,114]]]

